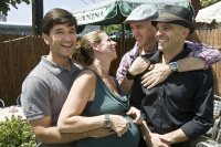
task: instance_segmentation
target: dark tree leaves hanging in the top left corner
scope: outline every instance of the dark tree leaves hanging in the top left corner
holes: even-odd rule
[[[21,2],[25,2],[27,4],[30,4],[31,0],[0,0],[0,12],[4,15],[8,15],[8,12],[10,11],[10,6],[18,9],[18,4]]]

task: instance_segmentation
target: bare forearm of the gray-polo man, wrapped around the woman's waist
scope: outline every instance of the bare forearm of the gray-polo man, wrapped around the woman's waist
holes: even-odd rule
[[[74,134],[60,133],[57,126],[51,126],[51,116],[30,120],[30,125],[32,126],[36,139],[43,144],[63,144],[88,137],[101,138],[114,134],[114,132],[106,128]]]

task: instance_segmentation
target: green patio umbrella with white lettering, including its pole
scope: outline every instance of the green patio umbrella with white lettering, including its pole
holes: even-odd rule
[[[124,20],[137,6],[143,3],[155,4],[159,10],[166,3],[179,4],[193,10],[189,0],[105,0],[104,2],[94,3],[85,8],[74,10],[72,13],[76,17],[78,25],[122,24],[123,39],[120,43],[120,51],[124,53]]]

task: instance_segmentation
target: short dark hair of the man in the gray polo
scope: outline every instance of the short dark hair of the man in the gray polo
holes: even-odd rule
[[[43,33],[49,34],[56,24],[75,25],[77,29],[76,18],[71,12],[60,8],[54,8],[44,15],[42,22]]]

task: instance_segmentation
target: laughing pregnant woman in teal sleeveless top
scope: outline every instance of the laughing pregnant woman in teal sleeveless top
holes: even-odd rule
[[[103,138],[76,141],[76,147],[137,147],[141,122],[138,109],[129,108],[118,83],[108,75],[110,62],[117,57],[117,43],[103,31],[84,35],[73,60],[85,69],[74,81],[59,118],[61,133],[84,133],[97,128],[115,132]],[[135,119],[128,115],[135,116]]]

